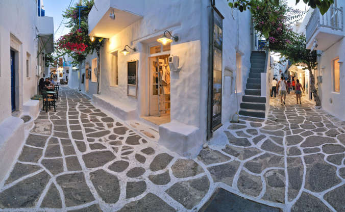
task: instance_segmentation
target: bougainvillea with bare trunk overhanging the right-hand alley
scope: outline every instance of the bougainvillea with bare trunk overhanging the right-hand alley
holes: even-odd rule
[[[311,92],[316,105],[321,105],[312,73],[317,66],[316,61],[319,55],[315,50],[306,48],[304,34],[292,30],[292,24],[303,18],[305,12],[288,7],[285,1],[250,0],[244,2],[251,11],[255,30],[268,41],[268,49],[279,52],[292,65],[304,66],[305,70],[309,70]],[[232,3],[229,3],[229,6],[239,7]]]

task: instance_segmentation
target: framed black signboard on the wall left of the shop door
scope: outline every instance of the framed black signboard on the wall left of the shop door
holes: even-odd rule
[[[137,97],[138,88],[138,61],[127,62],[127,95]]]

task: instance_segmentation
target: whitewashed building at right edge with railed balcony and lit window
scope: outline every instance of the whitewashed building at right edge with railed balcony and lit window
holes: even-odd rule
[[[322,107],[328,113],[345,119],[345,60],[344,39],[344,1],[335,0],[326,14],[321,15],[317,9],[307,18],[307,48],[316,49],[321,54],[315,70],[315,83],[322,99]]]

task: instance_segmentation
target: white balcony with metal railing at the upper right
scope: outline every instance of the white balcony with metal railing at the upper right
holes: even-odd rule
[[[334,5],[324,15],[315,9],[306,25],[307,48],[326,50],[344,36],[342,7]],[[315,44],[316,42],[316,44]]]

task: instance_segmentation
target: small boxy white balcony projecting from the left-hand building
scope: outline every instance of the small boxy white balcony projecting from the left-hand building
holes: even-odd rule
[[[53,17],[37,17],[37,30],[47,53],[54,52],[54,21]]]

